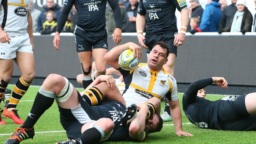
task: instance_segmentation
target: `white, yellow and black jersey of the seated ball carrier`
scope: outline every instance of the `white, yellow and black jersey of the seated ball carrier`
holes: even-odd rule
[[[127,71],[117,69],[124,78],[125,90],[123,97],[126,105],[145,102],[152,97],[166,98],[175,101],[178,97],[176,80],[163,68],[159,72],[149,69],[146,63]]]

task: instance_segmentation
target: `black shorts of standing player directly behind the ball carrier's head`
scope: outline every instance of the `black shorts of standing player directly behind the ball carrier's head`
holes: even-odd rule
[[[175,33],[165,33],[165,34],[147,34],[145,35],[145,45],[148,46],[147,54],[152,50],[154,44],[158,41],[165,42],[169,48],[170,53],[174,53],[177,56],[177,47],[173,45]]]

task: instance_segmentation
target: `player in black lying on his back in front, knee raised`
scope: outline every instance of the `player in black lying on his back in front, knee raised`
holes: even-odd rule
[[[147,103],[150,108],[146,104],[138,104],[140,111],[134,122],[125,126],[125,122],[121,121],[125,126],[121,127],[118,120],[125,114],[126,103],[112,76],[99,76],[80,95],[66,78],[50,74],[39,89],[24,125],[16,129],[5,144],[19,144],[22,140],[33,138],[33,126],[53,104],[54,99],[59,107],[60,122],[67,137],[75,139],[77,144],[98,143],[104,140],[143,141],[148,133],[160,131],[163,124],[159,114],[154,114],[154,111],[160,112],[160,101],[152,98]],[[102,100],[115,101],[94,106]],[[147,115],[147,112],[151,113]],[[150,118],[146,120],[146,117]]]

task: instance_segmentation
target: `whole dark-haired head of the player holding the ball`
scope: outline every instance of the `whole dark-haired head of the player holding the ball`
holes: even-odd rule
[[[169,46],[163,42],[156,42],[151,52],[148,54],[147,64],[152,70],[161,70],[167,62],[169,55]]]

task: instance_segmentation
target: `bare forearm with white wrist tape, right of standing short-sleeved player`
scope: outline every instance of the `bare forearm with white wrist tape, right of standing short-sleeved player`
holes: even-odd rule
[[[187,32],[188,22],[189,22],[189,13],[188,9],[185,8],[180,11],[181,13],[181,28],[180,31],[178,31],[178,34],[174,38],[174,45],[181,46],[185,41],[185,34]],[[179,43],[181,42],[181,43]]]

